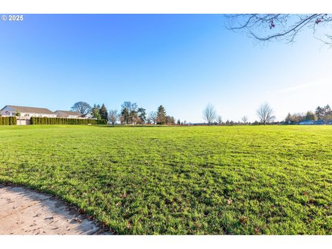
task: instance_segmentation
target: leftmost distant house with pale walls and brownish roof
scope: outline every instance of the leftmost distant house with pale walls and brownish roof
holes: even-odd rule
[[[46,108],[37,108],[37,107],[19,107],[6,105],[1,109],[1,116],[18,116],[20,117],[47,117],[47,118],[56,118],[57,114],[53,113]]]

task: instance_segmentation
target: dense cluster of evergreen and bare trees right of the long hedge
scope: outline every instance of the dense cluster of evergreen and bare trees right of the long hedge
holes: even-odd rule
[[[145,108],[138,107],[138,104],[130,101],[124,101],[121,104],[120,112],[116,109],[107,111],[104,104],[101,106],[100,104],[93,104],[93,107],[91,107],[86,102],[76,102],[71,109],[81,113],[82,116],[106,120],[113,125],[117,122],[121,124],[176,124],[174,117],[167,115],[163,105],[160,105],[156,111],[150,111],[149,113]]]

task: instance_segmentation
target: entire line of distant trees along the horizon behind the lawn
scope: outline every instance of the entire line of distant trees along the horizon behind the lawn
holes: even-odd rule
[[[104,104],[94,104],[91,107],[86,102],[77,102],[71,107],[73,111],[77,111],[82,114],[82,116],[91,116],[96,120],[105,120],[105,122],[110,122],[111,124],[116,124],[120,122],[121,124],[187,124],[185,121],[175,120],[173,116],[169,116],[166,113],[165,107],[160,105],[156,111],[149,111],[143,107],[138,107],[136,102],[124,101],[121,104],[120,112],[116,109],[111,109],[107,111],[107,108]],[[252,124],[271,124],[275,123],[274,110],[270,107],[270,104],[265,102],[261,104],[256,111],[257,118],[259,121],[255,121]],[[243,116],[241,118],[242,122],[234,122],[226,120],[223,122],[222,118],[216,112],[216,109],[212,104],[208,104],[205,109],[203,109],[203,119],[205,124],[208,125],[232,125],[232,124],[251,124],[248,122],[248,117]],[[284,122],[291,124],[302,122],[305,120],[324,120],[325,122],[332,120],[332,109],[329,104],[326,104],[325,107],[317,107],[315,112],[307,111],[306,113],[288,113]]]

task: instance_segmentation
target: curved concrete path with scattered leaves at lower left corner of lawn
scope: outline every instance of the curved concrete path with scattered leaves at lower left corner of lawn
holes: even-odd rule
[[[0,234],[111,234],[63,201],[0,185]]]

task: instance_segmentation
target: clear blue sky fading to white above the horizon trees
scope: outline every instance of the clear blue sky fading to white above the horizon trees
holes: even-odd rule
[[[222,15],[25,15],[0,21],[0,105],[70,109],[77,101],[147,111],[160,104],[201,122],[257,119],[332,105],[332,48],[304,32],[295,44],[256,44]]]

